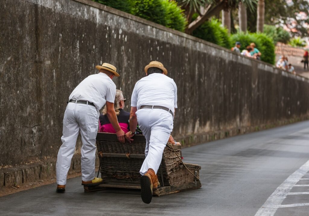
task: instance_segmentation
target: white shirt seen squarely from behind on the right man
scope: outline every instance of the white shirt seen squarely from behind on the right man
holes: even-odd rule
[[[164,106],[172,111],[177,108],[177,86],[173,79],[164,74],[153,73],[134,86],[131,106]]]

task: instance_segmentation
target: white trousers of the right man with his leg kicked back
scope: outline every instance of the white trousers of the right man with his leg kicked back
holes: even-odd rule
[[[146,158],[139,172],[145,175],[151,168],[157,174],[163,150],[173,130],[173,116],[162,109],[140,109],[136,115],[139,128],[146,138]]]

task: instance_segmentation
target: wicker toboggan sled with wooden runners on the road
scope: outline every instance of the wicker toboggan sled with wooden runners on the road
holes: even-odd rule
[[[98,133],[96,145],[100,159],[103,184],[84,186],[85,192],[106,188],[140,189],[139,170],[145,159],[146,140],[143,135],[135,135],[132,143],[120,143],[116,134]],[[201,166],[181,161],[181,146],[167,144],[158,170],[160,187],[154,196],[163,196],[201,187],[199,170]]]

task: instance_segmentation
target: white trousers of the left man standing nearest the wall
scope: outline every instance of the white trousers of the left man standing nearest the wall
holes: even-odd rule
[[[81,133],[82,180],[90,181],[95,177],[95,138],[98,132],[99,111],[91,105],[68,103],[63,117],[62,145],[56,164],[57,184],[65,185],[70,169],[76,140]]]

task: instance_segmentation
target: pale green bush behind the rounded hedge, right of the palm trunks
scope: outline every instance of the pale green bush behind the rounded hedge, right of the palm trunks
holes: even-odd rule
[[[276,27],[273,25],[264,25],[264,33],[273,38],[273,42],[276,45],[277,42],[288,43],[290,41],[290,33],[284,30],[282,27]]]

